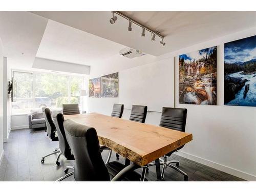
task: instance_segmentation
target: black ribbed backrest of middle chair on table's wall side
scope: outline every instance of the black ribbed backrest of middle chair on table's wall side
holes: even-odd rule
[[[130,115],[130,120],[144,123],[146,119],[146,113],[147,113],[147,106],[133,105],[131,115]]]

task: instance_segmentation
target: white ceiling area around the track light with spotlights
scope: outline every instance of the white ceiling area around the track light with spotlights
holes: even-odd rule
[[[256,26],[255,11],[123,12],[145,26],[166,35],[166,46],[161,47],[159,38],[152,42],[149,33],[141,37],[141,29],[137,26],[133,25],[133,31],[127,31],[127,20],[120,16],[117,22],[111,25],[110,11],[34,11],[33,13],[155,56]]]

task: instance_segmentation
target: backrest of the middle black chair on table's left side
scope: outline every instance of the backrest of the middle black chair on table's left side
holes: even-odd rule
[[[68,160],[74,160],[74,156],[71,153],[71,149],[69,146],[69,143],[67,141],[65,130],[63,126],[64,117],[61,113],[57,111],[52,112],[52,118],[53,122],[55,124],[57,133],[58,133],[58,139],[59,139],[59,149],[61,153],[68,159]]]

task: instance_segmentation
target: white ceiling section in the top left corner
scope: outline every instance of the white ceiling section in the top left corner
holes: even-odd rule
[[[0,11],[4,56],[12,68],[31,68],[48,19],[25,11]]]

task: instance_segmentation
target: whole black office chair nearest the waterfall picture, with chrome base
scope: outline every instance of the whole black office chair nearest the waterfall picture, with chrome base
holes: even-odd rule
[[[159,126],[166,127],[168,129],[177,130],[181,132],[185,132],[186,127],[186,119],[187,119],[187,109],[180,109],[180,108],[163,108],[162,109],[162,115]],[[161,173],[161,179],[164,179],[165,169],[168,167],[171,167],[178,172],[180,172],[182,175],[184,175],[184,180],[188,180],[188,176],[183,170],[179,169],[177,166],[179,166],[179,161],[173,160],[173,161],[167,161],[167,156],[169,157],[174,152],[178,152],[184,145],[177,148],[177,150],[172,151],[164,156],[164,159],[160,159],[160,164],[163,165],[162,173]],[[176,163],[176,166],[172,165],[172,163]],[[155,163],[150,163],[148,166],[152,166]]]

